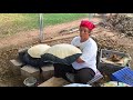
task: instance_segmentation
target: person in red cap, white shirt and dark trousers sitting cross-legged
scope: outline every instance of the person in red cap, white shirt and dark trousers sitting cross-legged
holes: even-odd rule
[[[90,37],[95,26],[89,20],[82,20],[80,23],[80,36],[73,38],[71,44],[82,51],[82,56],[71,66],[54,63],[54,77],[73,83],[88,83],[94,78],[96,72],[98,44]]]

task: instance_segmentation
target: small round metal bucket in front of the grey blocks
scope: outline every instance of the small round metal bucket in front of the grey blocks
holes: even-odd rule
[[[37,79],[34,77],[28,77],[27,79],[24,79],[23,83],[27,87],[35,87]]]

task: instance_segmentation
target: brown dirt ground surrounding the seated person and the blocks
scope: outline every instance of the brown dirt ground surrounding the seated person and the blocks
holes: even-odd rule
[[[84,18],[88,19],[88,18]],[[44,41],[51,40],[59,37],[69,38],[48,41],[45,43],[53,46],[57,43],[70,43],[74,36],[78,36],[79,32],[73,33],[61,33],[62,30],[71,29],[79,27],[80,21],[83,19],[79,19],[76,21],[66,22],[57,26],[50,26],[44,28]],[[100,18],[92,19],[93,22],[101,21]],[[73,36],[74,34],[74,36]],[[110,49],[117,50],[122,52],[129,53],[133,58],[133,39],[121,36],[117,32],[104,29],[98,26],[92,31],[92,37],[98,42],[100,49]],[[40,43],[39,40],[39,30],[24,31],[20,32],[17,36],[12,36],[9,38],[4,38],[0,40],[0,87],[21,87],[22,79],[20,76],[16,76],[11,71],[10,60],[17,58],[18,50],[20,48],[29,47]],[[131,61],[131,68],[133,62]]]

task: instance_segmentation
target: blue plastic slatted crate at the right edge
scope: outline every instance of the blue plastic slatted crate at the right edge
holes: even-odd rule
[[[114,73],[112,73],[112,80],[124,82],[130,86],[133,86],[133,70],[130,67],[125,67]]]

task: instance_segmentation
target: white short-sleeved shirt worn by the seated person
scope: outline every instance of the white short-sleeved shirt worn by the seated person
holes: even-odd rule
[[[96,53],[98,53],[96,42],[92,38],[89,38],[84,42],[80,42],[80,40],[81,40],[80,37],[75,37],[71,41],[71,44],[79,47],[81,49],[82,56],[80,58],[84,62],[78,63],[76,61],[74,61],[72,63],[73,68],[75,70],[82,68],[91,68],[94,72],[96,72]]]

